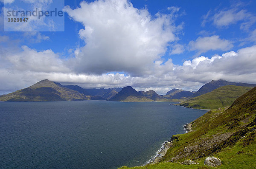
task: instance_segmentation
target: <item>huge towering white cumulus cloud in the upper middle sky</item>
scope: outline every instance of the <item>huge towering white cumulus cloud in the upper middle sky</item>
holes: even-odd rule
[[[180,29],[172,14],[153,17],[147,9],[134,8],[126,0],[83,1],[79,8],[66,6],[65,11],[84,25],[79,36],[86,45],[76,50],[73,61],[80,73],[125,71],[143,76],[166,53]]]

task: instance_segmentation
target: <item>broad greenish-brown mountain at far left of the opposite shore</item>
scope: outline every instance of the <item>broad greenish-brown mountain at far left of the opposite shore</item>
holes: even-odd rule
[[[71,90],[48,79],[42,80],[25,89],[0,96],[0,101],[71,101],[92,99],[99,98],[85,96],[78,91]]]

